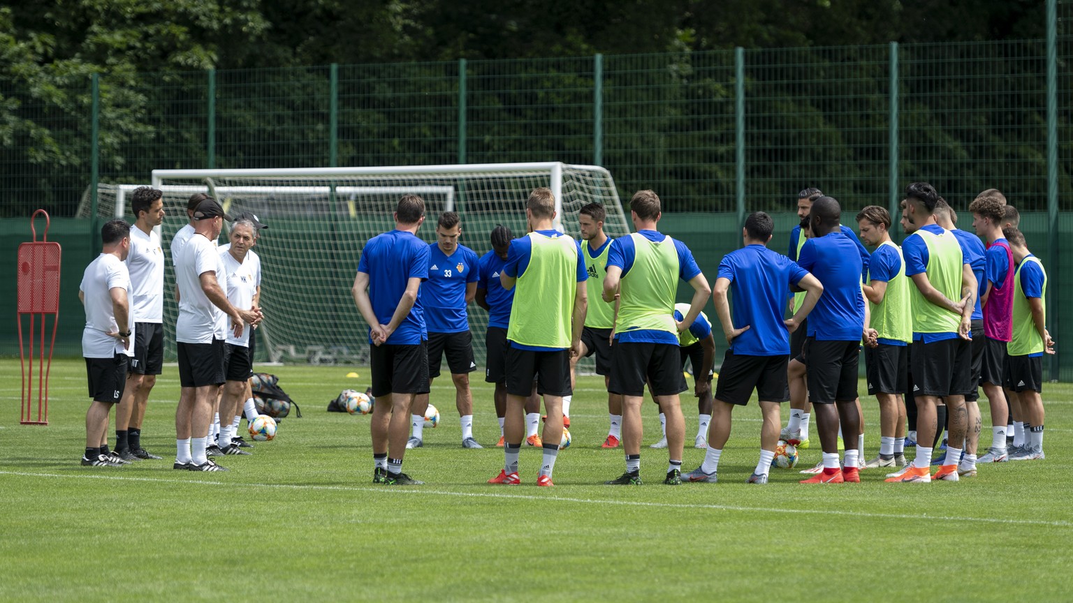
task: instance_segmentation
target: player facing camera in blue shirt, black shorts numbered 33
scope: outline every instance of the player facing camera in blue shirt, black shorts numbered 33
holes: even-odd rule
[[[444,211],[436,224],[436,242],[428,244],[428,280],[421,286],[421,305],[428,325],[428,384],[440,376],[440,362],[447,357],[451,380],[455,384],[455,407],[462,427],[462,447],[480,448],[473,439],[473,394],[469,373],[476,370],[473,341],[466,306],[476,295],[480,266],[476,253],[458,244],[461,219],[454,211]],[[408,448],[423,443],[428,394],[417,396],[412,409],[413,432]]]

